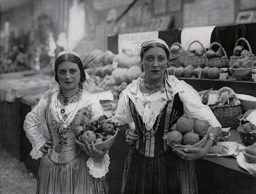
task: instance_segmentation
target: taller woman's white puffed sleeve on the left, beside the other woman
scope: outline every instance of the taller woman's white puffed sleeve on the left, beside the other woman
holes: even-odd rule
[[[126,90],[120,93],[116,113],[114,116],[114,122],[117,125],[129,124],[133,122],[133,117],[129,105],[129,96],[126,94]]]

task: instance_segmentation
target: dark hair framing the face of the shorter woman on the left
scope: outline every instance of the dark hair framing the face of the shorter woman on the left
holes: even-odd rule
[[[80,75],[81,75],[80,81],[84,82],[86,80],[86,74],[84,73],[84,70],[83,70],[82,61],[78,56],[76,56],[72,53],[62,54],[56,58],[55,63],[54,63],[55,80],[57,82],[59,82],[59,78],[57,75],[57,69],[58,69],[59,64],[61,62],[66,62],[66,61],[74,62],[78,65],[78,68],[80,70]]]

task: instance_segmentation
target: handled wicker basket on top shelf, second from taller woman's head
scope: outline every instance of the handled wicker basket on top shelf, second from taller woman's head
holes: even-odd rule
[[[195,40],[195,41],[191,42],[190,45],[187,48],[187,52],[189,52],[189,49],[190,49],[191,45],[194,44],[195,42],[198,42],[201,45],[201,47],[204,50],[204,53],[203,53],[202,56],[189,56],[189,55],[186,56],[185,61],[184,61],[184,66],[186,67],[190,64],[194,68],[197,68],[197,67],[204,68],[205,63],[206,63],[206,50],[205,50],[204,46],[201,44],[200,41]]]

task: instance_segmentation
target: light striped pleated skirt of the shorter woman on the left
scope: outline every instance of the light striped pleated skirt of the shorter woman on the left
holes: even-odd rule
[[[105,194],[105,177],[95,179],[86,165],[88,157],[80,154],[71,162],[58,164],[47,154],[41,158],[37,177],[37,194]]]

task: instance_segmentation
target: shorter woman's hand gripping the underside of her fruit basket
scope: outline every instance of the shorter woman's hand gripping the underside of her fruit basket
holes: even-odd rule
[[[86,154],[88,156],[90,156],[92,159],[94,159],[95,161],[101,161],[103,156],[106,154],[106,151],[108,150],[109,148],[109,145],[105,146],[103,148],[103,150],[100,150],[100,149],[97,149],[94,145],[94,143],[92,142],[91,146],[90,144],[88,143],[88,141],[85,142],[86,144],[86,149],[87,149],[87,152]]]

